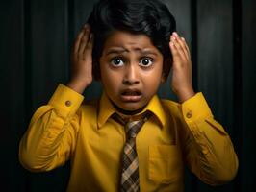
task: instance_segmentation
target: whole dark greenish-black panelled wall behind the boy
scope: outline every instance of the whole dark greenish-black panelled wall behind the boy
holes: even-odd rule
[[[163,0],[192,49],[193,83],[234,142],[235,180],[210,187],[186,171],[187,192],[254,191],[256,116],[256,1]],[[32,174],[18,162],[18,142],[29,120],[69,77],[69,53],[95,0],[0,2],[1,191],[64,191],[69,165]],[[86,98],[100,95],[93,83]],[[175,99],[169,84],[159,94]],[[85,179],[86,180],[86,179]]]

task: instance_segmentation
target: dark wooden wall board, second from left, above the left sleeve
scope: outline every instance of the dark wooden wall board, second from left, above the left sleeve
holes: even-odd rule
[[[33,109],[49,100],[69,69],[67,2],[30,2],[30,66]]]

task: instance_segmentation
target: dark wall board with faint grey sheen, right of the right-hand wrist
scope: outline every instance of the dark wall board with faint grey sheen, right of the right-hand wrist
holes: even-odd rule
[[[233,131],[232,0],[197,0],[197,74],[215,118]],[[235,191],[232,183],[213,188],[198,180],[198,192]]]

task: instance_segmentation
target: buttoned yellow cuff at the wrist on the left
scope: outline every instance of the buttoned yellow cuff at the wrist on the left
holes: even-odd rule
[[[67,117],[77,111],[83,100],[83,95],[64,84],[59,84],[48,104],[56,108],[59,114]]]

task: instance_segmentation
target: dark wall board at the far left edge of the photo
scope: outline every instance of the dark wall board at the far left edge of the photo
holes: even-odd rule
[[[17,160],[25,126],[22,3],[0,2],[0,183],[5,191],[24,191],[26,187],[26,174]]]

